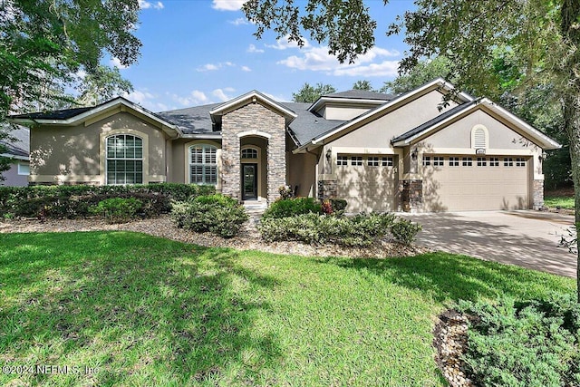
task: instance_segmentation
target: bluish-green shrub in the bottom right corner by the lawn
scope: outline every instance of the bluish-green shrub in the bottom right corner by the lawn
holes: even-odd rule
[[[459,309],[474,316],[464,360],[476,385],[580,385],[580,305],[574,296],[462,302]]]

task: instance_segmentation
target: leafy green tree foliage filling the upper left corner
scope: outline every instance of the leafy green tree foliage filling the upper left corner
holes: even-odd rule
[[[1,1],[0,123],[11,112],[70,104],[66,87],[79,72],[99,76],[104,54],[134,63],[138,14],[137,0]]]

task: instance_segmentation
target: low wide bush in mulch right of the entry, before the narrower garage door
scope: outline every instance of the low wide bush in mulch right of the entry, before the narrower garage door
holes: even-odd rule
[[[259,226],[267,242],[297,240],[308,244],[369,246],[384,237],[394,219],[391,214],[360,214],[336,218],[308,213],[286,218],[262,218]]]

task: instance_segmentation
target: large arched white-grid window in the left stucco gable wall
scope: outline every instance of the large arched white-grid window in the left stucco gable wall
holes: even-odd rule
[[[143,139],[131,134],[107,137],[107,184],[143,183]]]

